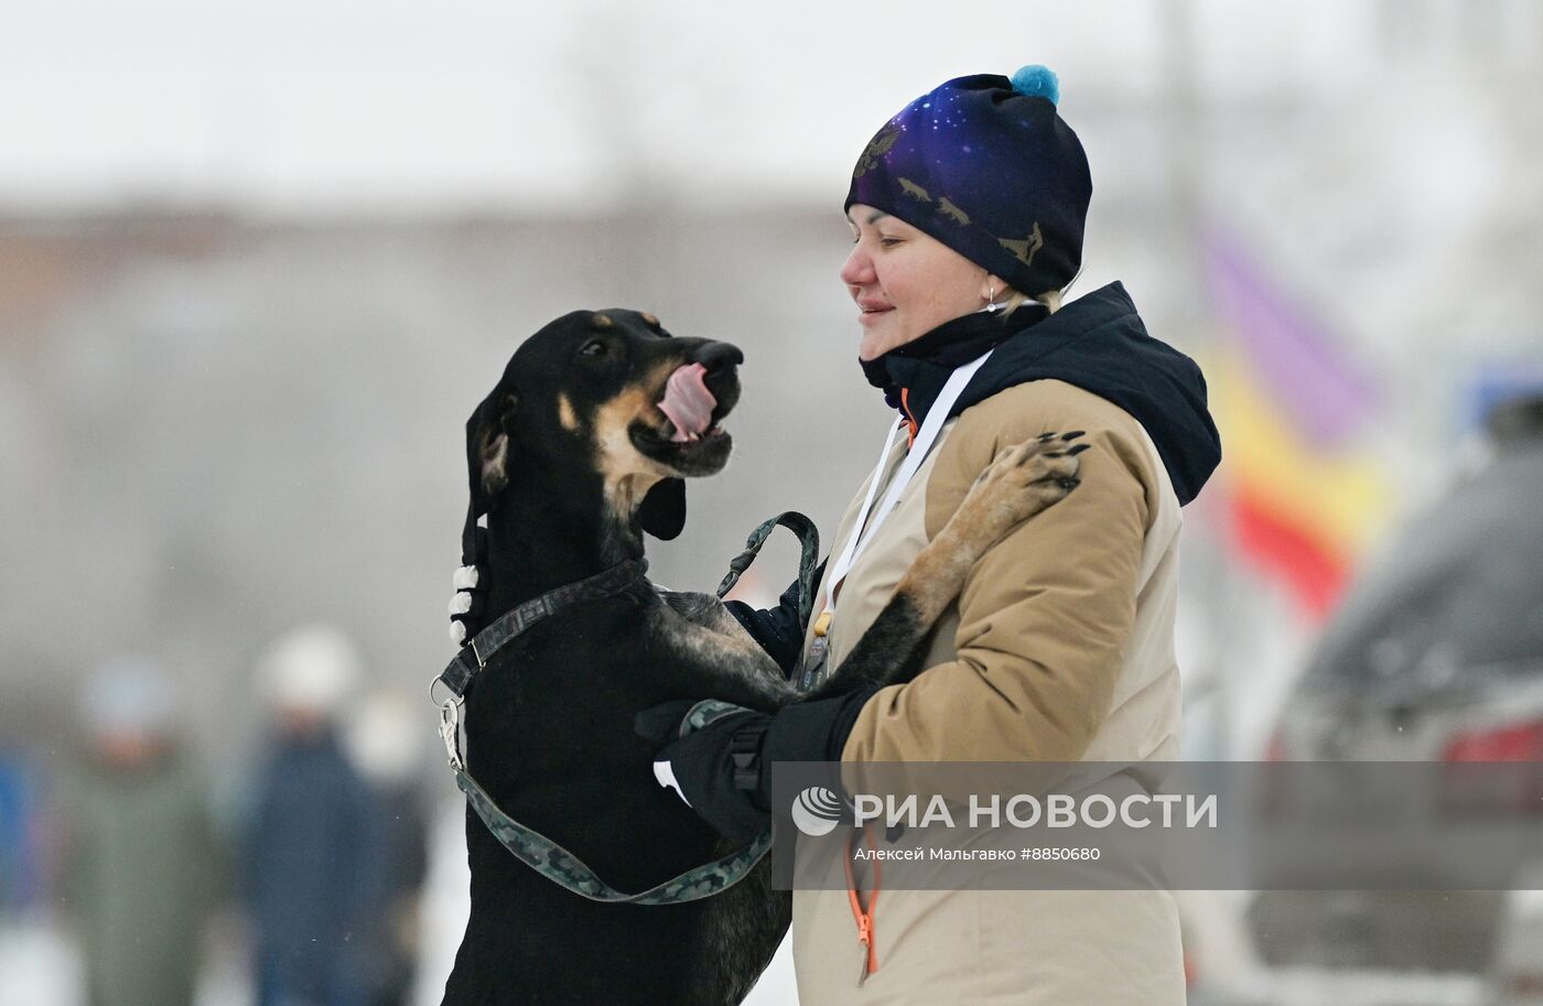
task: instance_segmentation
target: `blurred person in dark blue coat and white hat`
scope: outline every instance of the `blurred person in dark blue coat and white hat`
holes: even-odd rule
[[[363,660],[341,630],[307,625],[256,671],[273,719],[245,850],[258,1006],[366,1006],[381,812],[339,738]]]

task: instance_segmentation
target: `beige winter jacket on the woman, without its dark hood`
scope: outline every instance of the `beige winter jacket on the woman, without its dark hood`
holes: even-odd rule
[[[1082,486],[981,559],[934,637],[927,670],[867,702],[844,761],[1177,758],[1179,500],[1142,426],[1063,381],[1009,387],[943,427],[841,585],[827,637],[830,667],[997,452],[1074,429],[1086,430],[1089,444]],[[870,475],[881,492],[904,454],[904,443],[896,444]],[[866,492],[867,483],[833,552],[855,532]],[[1185,1000],[1179,917],[1168,892],[884,890],[875,947],[878,971],[859,987],[863,947],[847,893],[795,893],[802,1006]]]

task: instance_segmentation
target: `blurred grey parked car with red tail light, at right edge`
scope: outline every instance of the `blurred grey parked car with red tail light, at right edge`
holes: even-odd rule
[[[1543,398],[1489,421],[1492,457],[1352,585],[1287,699],[1282,761],[1543,762]],[[1498,796],[1489,813],[1537,801]],[[1543,1004],[1543,876],[1512,890],[1261,892],[1268,986],[1319,1003]],[[1308,1000],[1302,1000],[1308,1001]]]

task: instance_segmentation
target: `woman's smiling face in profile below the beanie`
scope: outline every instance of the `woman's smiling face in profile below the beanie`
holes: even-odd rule
[[[853,247],[841,282],[859,312],[858,358],[876,360],[986,302],[994,279],[941,241],[861,202],[847,210],[847,222]]]

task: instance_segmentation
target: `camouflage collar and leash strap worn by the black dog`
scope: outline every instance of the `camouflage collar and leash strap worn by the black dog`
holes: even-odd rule
[[[719,583],[717,596],[722,597],[730,591],[730,588],[734,586],[739,576],[750,568],[751,562],[755,562],[755,557],[761,551],[767,537],[779,525],[793,531],[799,540],[799,617],[804,623],[807,623],[815,599],[815,566],[819,560],[819,534],[815,531],[815,525],[809,520],[809,517],[793,511],[778,514],[772,520],[759,525],[750,534],[750,538],[745,542],[745,551],[733,559],[728,568],[728,576],[725,576],[724,582]],[[680,904],[685,901],[708,898],[721,890],[727,890],[744,879],[750,869],[759,863],[762,856],[765,856],[768,849],[772,849],[772,830],[767,829],[758,835],[755,841],[738,852],[733,852],[721,859],[714,859],[705,866],[687,870],[685,873],[667,879],[662,884],[656,884],[648,890],[636,895],[617,890],[600,879],[579,856],[500,810],[488,792],[477,785],[477,781],[466,773],[466,762],[461,758],[460,739],[461,704],[466,688],[471,685],[477,673],[488,667],[488,660],[491,660],[495,653],[518,639],[532,625],[579,602],[611,597],[628,589],[636,589],[639,583],[647,585],[647,562],[640,559],[628,560],[606,569],[605,572],[579,580],[577,583],[560,586],[555,591],[549,591],[540,597],[517,605],[497,622],[477,633],[477,636],[455,654],[455,659],[452,659],[444,671],[441,671],[435,679],[437,684],[443,684],[452,693],[451,697],[440,704],[440,738],[444,741],[444,750],[451,762],[451,770],[455,773],[455,785],[466,795],[466,801],[472,805],[472,810],[477,812],[477,816],[481,818],[481,822],[488,825],[488,830],[492,832],[494,838],[497,838],[505,849],[514,853],[515,859],[531,867],[546,879],[560,884],[562,887],[566,887],[572,893],[588,898],[589,901],[605,901],[611,904]],[[648,586],[650,589],[657,589],[653,588],[653,585]],[[471,653],[472,659],[468,659],[468,653]],[[722,716],[738,711],[738,705],[730,705],[728,702],[719,702],[716,699],[704,699],[702,702],[693,705],[691,711],[687,713],[685,719],[680,722],[680,736],[685,736],[693,730],[701,730]]]

